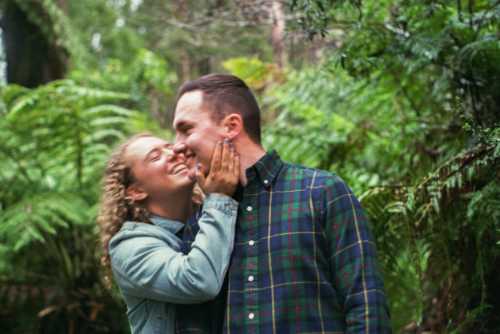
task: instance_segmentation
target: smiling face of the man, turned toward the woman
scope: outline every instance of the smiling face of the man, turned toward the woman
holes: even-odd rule
[[[203,165],[208,175],[215,143],[224,139],[224,129],[215,124],[209,110],[203,107],[200,90],[184,93],[175,107],[173,128],[177,138],[173,145],[175,153],[183,153],[187,160],[187,177],[196,180],[196,166]]]

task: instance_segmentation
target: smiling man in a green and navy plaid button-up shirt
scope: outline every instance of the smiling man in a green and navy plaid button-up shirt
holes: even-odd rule
[[[390,332],[371,228],[344,181],[265,152],[258,105],[240,79],[204,76],[183,84],[177,97],[173,149],[186,157],[188,177],[198,164],[207,172],[222,138],[234,143],[240,163],[234,248],[225,287],[208,310],[215,319],[209,324],[202,307],[180,308],[177,330]],[[184,252],[199,212],[187,221]]]

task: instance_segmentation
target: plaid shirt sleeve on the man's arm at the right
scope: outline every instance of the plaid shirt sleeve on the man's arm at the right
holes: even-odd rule
[[[337,176],[326,182],[322,201],[326,253],[346,332],[391,332],[380,263],[364,209]]]

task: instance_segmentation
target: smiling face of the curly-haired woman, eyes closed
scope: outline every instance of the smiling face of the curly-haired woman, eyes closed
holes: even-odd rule
[[[179,191],[192,190],[194,182],[187,178],[186,160],[175,154],[172,145],[156,137],[141,137],[125,150],[134,183],[127,193],[136,200],[157,201]],[[189,192],[190,194],[190,192]]]

